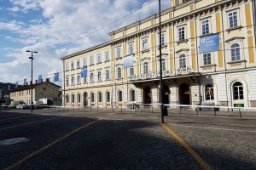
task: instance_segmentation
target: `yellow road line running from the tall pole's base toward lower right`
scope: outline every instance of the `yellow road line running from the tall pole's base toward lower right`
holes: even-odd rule
[[[199,155],[195,152],[195,150],[193,150],[192,148],[190,148],[189,145],[186,144],[186,143],[183,141],[183,139],[181,139],[179,136],[177,136],[177,134],[174,133],[174,132],[173,132],[169,127],[167,127],[164,123],[161,123],[161,125],[162,125],[163,127],[165,127],[166,130],[167,130],[169,133],[172,134],[172,137],[173,137],[174,139],[176,139],[179,144],[182,144],[183,147],[184,147],[186,150],[188,150],[189,154],[194,157],[194,159],[201,165],[201,167],[202,167],[204,170],[212,170],[212,168],[207,164],[207,162],[204,161],[204,160],[201,158],[201,156],[199,156]]]

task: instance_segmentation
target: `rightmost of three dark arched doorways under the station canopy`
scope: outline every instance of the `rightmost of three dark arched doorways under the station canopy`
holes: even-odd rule
[[[187,83],[179,86],[179,104],[190,105],[190,89]]]

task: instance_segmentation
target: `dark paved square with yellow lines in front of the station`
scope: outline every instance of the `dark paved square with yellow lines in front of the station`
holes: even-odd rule
[[[0,169],[256,169],[256,117],[0,110]]]

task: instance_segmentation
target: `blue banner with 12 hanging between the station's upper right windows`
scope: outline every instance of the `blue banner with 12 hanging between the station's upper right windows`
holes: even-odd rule
[[[200,50],[199,53],[207,53],[211,51],[218,51],[219,36],[212,34],[209,36],[200,37]]]

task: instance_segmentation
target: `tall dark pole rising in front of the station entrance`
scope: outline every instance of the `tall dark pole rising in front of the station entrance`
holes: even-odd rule
[[[162,37],[161,37],[161,3],[159,2],[159,55],[160,55],[160,109],[161,122],[164,123],[164,99],[163,99],[163,72],[162,72]]]

